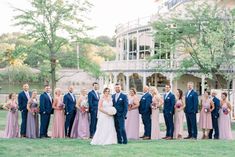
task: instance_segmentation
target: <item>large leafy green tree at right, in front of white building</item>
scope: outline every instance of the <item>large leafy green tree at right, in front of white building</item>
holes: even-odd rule
[[[207,2],[186,8],[183,17],[176,14],[153,24],[155,42],[161,44],[157,51],[177,52],[184,56],[183,60],[179,59],[181,65],[178,73],[185,73],[196,65],[198,72],[213,78],[221,88],[218,76],[230,84],[234,72],[228,69],[235,63],[233,12]]]

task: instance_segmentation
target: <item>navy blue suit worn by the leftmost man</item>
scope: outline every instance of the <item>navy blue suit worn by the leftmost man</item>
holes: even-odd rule
[[[29,93],[29,95],[31,95],[31,93]],[[18,95],[18,104],[22,118],[21,129],[20,129],[21,135],[26,135],[26,124],[27,124],[27,115],[28,115],[27,103],[28,103],[28,98],[25,92],[24,91],[20,92]]]

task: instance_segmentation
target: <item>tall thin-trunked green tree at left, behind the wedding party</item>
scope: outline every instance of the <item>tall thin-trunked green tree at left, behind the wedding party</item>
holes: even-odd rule
[[[62,46],[79,42],[91,29],[85,25],[91,6],[87,0],[32,0],[29,10],[16,9],[16,25],[48,52],[45,59],[50,61],[52,92],[56,86],[57,55]]]

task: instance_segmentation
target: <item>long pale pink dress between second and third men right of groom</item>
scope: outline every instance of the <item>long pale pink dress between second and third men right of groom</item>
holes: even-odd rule
[[[174,116],[174,138],[178,135],[183,135],[184,126],[184,111],[182,100],[177,100],[175,103],[175,116]]]

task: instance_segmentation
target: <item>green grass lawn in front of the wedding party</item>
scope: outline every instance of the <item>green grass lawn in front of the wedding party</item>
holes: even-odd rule
[[[0,111],[1,130],[5,127],[6,113]],[[222,140],[140,140],[128,145],[91,146],[90,140],[0,139],[0,157],[228,157],[234,153],[235,141]]]

